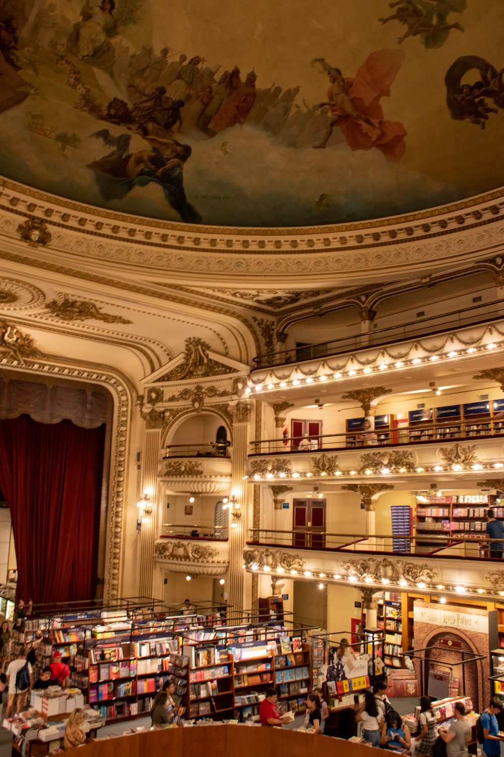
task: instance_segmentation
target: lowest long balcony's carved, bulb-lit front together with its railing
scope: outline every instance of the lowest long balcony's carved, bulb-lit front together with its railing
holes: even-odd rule
[[[463,595],[481,602],[485,597],[504,597],[504,561],[489,559],[484,542],[484,538],[450,536],[251,529],[243,562],[248,572],[269,575],[273,581],[289,578],[372,591],[414,590],[441,595],[441,601]],[[416,554],[417,548],[421,554]]]

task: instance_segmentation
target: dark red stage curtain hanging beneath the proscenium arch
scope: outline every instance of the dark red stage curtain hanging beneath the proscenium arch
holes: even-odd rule
[[[105,425],[0,420],[0,489],[11,509],[17,597],[93,599]]]

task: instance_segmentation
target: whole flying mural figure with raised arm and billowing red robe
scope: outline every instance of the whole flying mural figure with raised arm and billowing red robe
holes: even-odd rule
[[[329,66],[323,58],[315,58],[315,61],[323,65],[331,85],[327,101],[319,104],[319,107],[330,107],[326,133],[314,148],[325,148],[332,129],[339,126],[351,150],[375,147],[387,160],[398,163],[406,150],[407,131],[400,121],[383,117],[380,99],[390,95],[404,53],[387,49],[373,52],[354,78],[345,78],[339,68]]]

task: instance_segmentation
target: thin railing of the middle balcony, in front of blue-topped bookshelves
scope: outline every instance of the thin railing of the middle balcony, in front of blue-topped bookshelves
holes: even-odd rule
[[[487,414],[490,416],[490,413]],[[481,416],[480,416],[481,418]],[[400,447],[404,444],[428,444],[436,441],[457,441],[459,439],[490,438],[504,435],[502,415],[481,419],[459,419],[443,422],[404,422],[395,428],[376,426],[374,431],[356,429],[341,431],[339,434],[312,435],[308,438],[289,436],[279,439],[255,440],[250,442],[249,456],[271,454],[300,454],[320,450],[350,450],[356,447],[376,450],[379,447]],[[302,444],[307,441],[307,444]],[[300,449],[299,447],[302,447]]]

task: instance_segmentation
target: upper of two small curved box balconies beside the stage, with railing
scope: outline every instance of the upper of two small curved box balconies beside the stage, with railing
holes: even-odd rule
[[[231,459],[221,454],[218,445],[178,444],[172,445],[169,450],[176,450],[176,453],[163,458],[158,474],[159,483],[169,494],[219,494],[227,491],[231,482]]]

